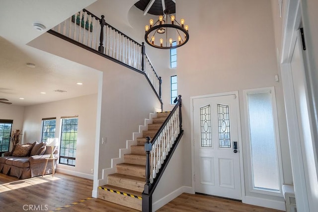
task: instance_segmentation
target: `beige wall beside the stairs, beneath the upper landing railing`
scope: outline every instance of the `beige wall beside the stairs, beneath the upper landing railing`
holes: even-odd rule
[[[50,43],[55,44],[54,48]],[[100,179],[102,169],[110,167],[111,159],[119,156],[119,148],[126,147],[126,141],[138,132],[144,119],[160,108],[158,98],[143,74],[51,34],[43,34],[29,45],[103,72],[102,89],[98,91],[101,93],[100,142],[96,149]],[[101,138],[106,139],[105,144],[101,144]]]

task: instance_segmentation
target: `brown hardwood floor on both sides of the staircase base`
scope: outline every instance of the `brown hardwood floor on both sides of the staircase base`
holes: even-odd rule
[[[18,180],[0,174],[0,212],[137,212],[91,198],[92,180],[56,173]],[[88,199],[88,200],[85,200]],[[65,208],[64,208],[65,207]],[[61,209],[63,208],[63,209]],[[280,212],[204,195],[182,194],[159,212]]]

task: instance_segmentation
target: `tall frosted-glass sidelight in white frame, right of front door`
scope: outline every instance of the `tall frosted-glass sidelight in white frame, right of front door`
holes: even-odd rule
[[[281,194],[281,155],[274,87],[243,90],[251,190]]]

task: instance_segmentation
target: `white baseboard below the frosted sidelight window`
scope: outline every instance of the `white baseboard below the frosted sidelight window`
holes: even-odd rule
[[[253,206],[276,209],[280,211],[286,211],[285,201],[268,200],[263,198],[245,196],[242,199],[242,203]]]

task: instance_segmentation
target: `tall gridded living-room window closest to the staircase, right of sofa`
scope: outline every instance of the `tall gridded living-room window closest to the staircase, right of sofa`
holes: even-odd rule
[[[78,117],[62,117],[60,164],[75,166],[78,121]]]

